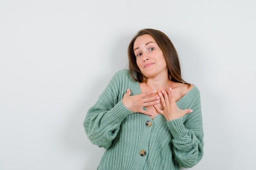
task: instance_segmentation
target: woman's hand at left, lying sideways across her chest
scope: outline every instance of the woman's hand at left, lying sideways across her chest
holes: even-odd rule
[[[153,106],[159,103],[159,96],[153,95],[155,91],[148,91],[138,95],[131,96],[131,91],[128,88],[123,97],[123,104],[133,113],[143,113],[145,115],[153,116],[152,113],[143,110],[144,107]],[[153,96],[152,96],[153,95]]]

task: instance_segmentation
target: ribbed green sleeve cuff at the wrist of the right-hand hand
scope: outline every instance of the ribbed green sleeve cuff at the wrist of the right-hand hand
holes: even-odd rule
[[[188,132],[183,124],[182,117],[167,121],[167,126],[171,130],[173,137],[176,139],[182,139],[182,137]]]

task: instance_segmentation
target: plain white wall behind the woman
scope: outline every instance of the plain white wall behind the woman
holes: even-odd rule
[[[201,92],[204,158],[251,170],[256,152],[256,1],[1,0],[0,169],[95,170],[83,119],[143,28],[166,33]]]

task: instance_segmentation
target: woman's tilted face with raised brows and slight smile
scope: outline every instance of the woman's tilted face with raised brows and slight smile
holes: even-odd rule
[[[137,66],[145,77],[151,78],[161,74],[168,76],[164,55],[151,35],[139,36],[134,42],[133,50]]]

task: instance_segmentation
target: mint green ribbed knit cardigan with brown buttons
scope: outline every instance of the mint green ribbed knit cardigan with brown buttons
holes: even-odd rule
[[[98,170],[178,170],[180,166],[195,166],[203,157],[204,145],[198,88],[194,86],[177,101],[180,109],[193,112],[172,121],[162,115],[151,120],[148,115],[132,113],[122,102],[127,88],[131,95],[141,93],[128,70],[118,71],[83,122],[92,144],[106,149]],[[152,125],[147,126],[147,121]]]

